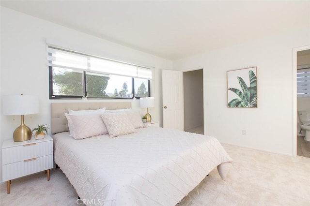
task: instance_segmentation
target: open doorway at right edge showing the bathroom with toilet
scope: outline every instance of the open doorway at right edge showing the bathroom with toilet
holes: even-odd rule
[[[305,138],[305,128],[301,129],[302,119],[303,125],[309,121],[310,117],[307,111],[310,112],[310,95],[309,95],[309,82],[310,81],[310,49],[297,51],[297,155],[310,158],[310,141]],[[299,117],[300,116],[300,117]],[[309,117],[309,118],[303,118]],[[307,140],[306,140],[307,139]]]

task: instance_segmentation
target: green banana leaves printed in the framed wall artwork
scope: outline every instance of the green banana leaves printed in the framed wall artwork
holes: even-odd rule
[[[240,88],[228,88],[239,98],[234,98],[228,103],[228,107],[257,107],[257,82],[253,70],[248,71],[249,85],[246,84],[241,76],[236,76]]]

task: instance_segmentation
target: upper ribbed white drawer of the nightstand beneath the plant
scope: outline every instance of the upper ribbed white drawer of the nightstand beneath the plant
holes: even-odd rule
[[[53,141],[2,148],[2,165],[53,154]]]

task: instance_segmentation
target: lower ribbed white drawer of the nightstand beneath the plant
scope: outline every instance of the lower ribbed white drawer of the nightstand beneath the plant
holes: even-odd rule
[[[2,181],[31,175],[53,168],[53,154],[2,165]]]

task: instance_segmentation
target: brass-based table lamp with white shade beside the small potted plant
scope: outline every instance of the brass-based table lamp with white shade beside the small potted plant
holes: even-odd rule
[[[39,98],[30,95],[8,95],[3,97],[4,115],[21,115],[21,124],[13,133],[14,142],[31,139],[31,129],[24,123],[24,115],[39,113]]]

